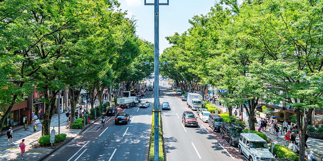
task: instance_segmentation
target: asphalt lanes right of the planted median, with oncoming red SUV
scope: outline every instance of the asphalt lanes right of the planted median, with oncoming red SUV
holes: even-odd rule
[[[207,123],[198,119],[199,126],[184,127],[182,114],[192,111],[181,100],[180,95],[175,95],[170,86],[160,88],[160,102],[169,102],[170,111],[161,112],[162,129],[167,161],[174,160],[214,160],[214,161],[240,161],[247,160],[231,147],[219,132],[214,132]],[[194,111],[196,114],[196,111]],[[197,114],[196,114],[197,116]]]

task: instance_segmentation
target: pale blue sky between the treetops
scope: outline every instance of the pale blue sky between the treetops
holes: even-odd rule
[[[137,35],[154,43],[154,6],[144,5],[144,0],[119,0],[120,9],[127,11],[128,18],[135,16]],[[147,0],[154,3],[154,0]],[[167,3],[167,0],[159,0]],[[169,5],[159,7],[159,52],[160,54],[171,44],[165,39],[174,33],[183,33],[191,27],[188,20],[194,15],[205,15],[216,3],[215,0],[169,0]]]

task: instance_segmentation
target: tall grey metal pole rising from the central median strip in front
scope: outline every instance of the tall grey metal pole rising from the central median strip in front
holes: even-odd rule
[[[146,3],[145,5],[154,5],[154,28],[155,28],[155,49],[154,49],[154,68],[155,68],[155,87],[154,87],[154,160],[159,160],[159,5],[169,5],[169,0],[167,3],[159,3],[159,0],[155,0],[155,3]]]

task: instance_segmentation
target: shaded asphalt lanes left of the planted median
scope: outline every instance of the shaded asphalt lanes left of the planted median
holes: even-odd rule
[[[130,115],[127,125],[115,125],[115,117],[105,117],[104,128],[101,129],[100,120],[97,121],[46,160],[147,161],[152,121],[152,94],[153,91],[147,91],[141,99],[150,102],[148,108],[139,109],[139,106],[136,106],[121,109]]]

